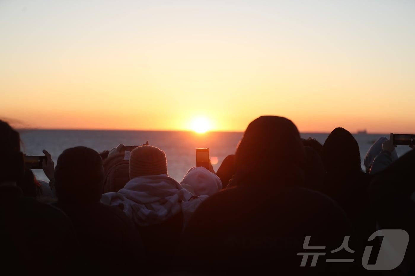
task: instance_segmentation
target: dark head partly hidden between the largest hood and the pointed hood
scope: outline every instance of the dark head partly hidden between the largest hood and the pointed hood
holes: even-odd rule
[[[304,150],[307,158],[304,187],[315,191],[321,191],[325,174],[321,157],[312,147],[304,146]]]

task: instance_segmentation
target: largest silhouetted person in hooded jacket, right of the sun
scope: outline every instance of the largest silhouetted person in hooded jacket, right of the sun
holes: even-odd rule
[[[295,125],[277,116],[255,119],[235,161],[235,187],[210,196],[195,212],[183,233],[176,269],[252,275],[326,271],[324,259],[316,267],[300,267],[297,253],[307,251],[305,236],[311,236],[312,245],[332,250],[352,230],[334,201],[302,187],[305,153]]]

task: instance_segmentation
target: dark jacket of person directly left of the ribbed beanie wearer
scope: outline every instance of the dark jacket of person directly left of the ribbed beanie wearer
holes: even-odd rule
[[[71,218],[88,269],[107,273],[143,271],[144,250],[139,233],[120,209],[100,202],[55,204]]]

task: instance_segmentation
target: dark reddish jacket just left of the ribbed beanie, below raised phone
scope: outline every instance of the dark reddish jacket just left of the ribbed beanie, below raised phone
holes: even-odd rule
[[[129,181],[129,160],[124,159],[124,153],[105,159],[103,166],[105,172],[103,194],[124,188]]]

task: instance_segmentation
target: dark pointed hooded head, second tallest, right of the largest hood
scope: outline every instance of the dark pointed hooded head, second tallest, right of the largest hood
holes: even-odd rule
[[[360,171],[359,145],[344,128],[334,128],[324,142],[322,154],[326,172],[347,173]]]

